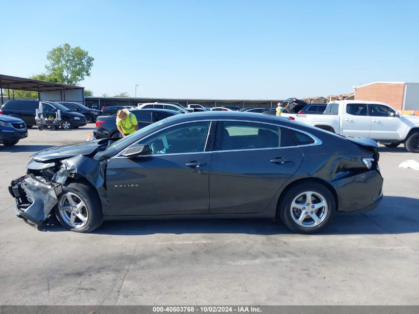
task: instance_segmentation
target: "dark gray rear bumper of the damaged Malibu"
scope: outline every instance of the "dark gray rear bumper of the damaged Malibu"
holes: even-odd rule
[[[338,194],[338,211],[369,211],[383,198],[383,177],[369,171],[332,182]]]

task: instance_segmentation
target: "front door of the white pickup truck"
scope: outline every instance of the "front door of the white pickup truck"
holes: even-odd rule
[[[403,124],[400,117],[390,107],[379,104],[368,104],[368,114],[371,117],[370,138],[399,139],[399,128]]]

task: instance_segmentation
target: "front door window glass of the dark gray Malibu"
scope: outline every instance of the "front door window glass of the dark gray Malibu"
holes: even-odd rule
[[[180,154],[205,151],[210,122],[193,122],[173,126],[151,135],[141,144],[148,144],[151,154]]]

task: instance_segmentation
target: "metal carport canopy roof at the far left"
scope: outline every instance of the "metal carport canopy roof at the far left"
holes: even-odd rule
[[[83,90],[84,96],[84,87],[81,86],[67,85],[55,82],[45,82],[37,79],[0,74],[1,104],[3,103],[3,88],[7,90],[12,89],[38,92],[38,97],[40,97],[39,92],[43,91],[64,91],[65,95],[66,90],[81,89]]]

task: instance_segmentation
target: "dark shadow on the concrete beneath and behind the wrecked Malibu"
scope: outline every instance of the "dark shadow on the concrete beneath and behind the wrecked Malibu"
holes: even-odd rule
[[[416,213],[415,213],[416,212]],[[42,231],[65,231],[50,224]],[[152,234],[293,234],[282,222],[266,219],[172,219],[105,221],[94,234],[115,236],[141,236]],[[401,196],[384,196],[380,205],[367,213],[342,213],[335,215],[320,235],[378,235],[419,233],[419,199]]]

